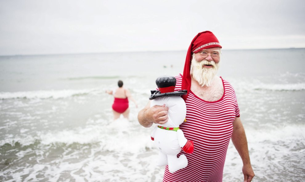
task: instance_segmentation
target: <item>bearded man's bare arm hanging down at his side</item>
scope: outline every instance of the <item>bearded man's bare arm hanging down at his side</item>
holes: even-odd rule
[[[250,182],[254,177],[254,172],[250,162],[246,133],[239,117],[236,117],[233,122],[233,134],[231,139],[242,158],[242,173],[244,174],[244,181]]]

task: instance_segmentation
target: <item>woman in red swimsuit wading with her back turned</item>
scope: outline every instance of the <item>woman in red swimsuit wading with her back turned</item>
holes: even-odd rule
[[[118,119],[120,115],[122,114],[124,118],[129,118],[129,102],[128,99],[132,100],[136,107],[138,105],[136,104],[135,99],[133,99],[132,95],[130,94],[130,91],[128,89],[125,89],[123,87],[123,81],[118,81],[118,88],[116,88],[113,91],[106,90],[106,93],[114,96],[114,102],[112,104],[112,111],[114,119]]]

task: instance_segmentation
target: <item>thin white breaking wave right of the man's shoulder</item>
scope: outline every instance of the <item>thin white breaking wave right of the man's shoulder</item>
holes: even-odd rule
[[[305,90],[305,83],[259,84],[259,85],[254,85],[253,89],[271,90],[271,91],[301,91],[301,90]]]

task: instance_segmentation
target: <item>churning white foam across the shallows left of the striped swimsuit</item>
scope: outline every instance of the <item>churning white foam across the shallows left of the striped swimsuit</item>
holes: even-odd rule
[[[14,145],[12,141],[18,141],[24,146],[40,141],[40,150],[28,148],[16,156],[22,159],[34,152],[35,160],[43,164],[19,166],[22,170],[18,171],[7,169],[0,175],[12,176],[11,181],[35,178],[55,182],[63,181],[63,176],[76,181],[161,181],[164,167],[158,167],[154,162],[157,152],[150,140],[150,132],[138,123],[120,118],[115,121],[89,119],[84,127],[40,131],[36,136],[28,135],[26,138],[6,136],[6,142],[1,144],[9,142]],[[79,150],[64,147],[75,143]],[[66,148],[62,155],[51,154],[54,144]],[[89,147],[87,144],[96,145]],[[47,158],[49,155],[55,156]],[[25,177],[21,179],[23,175]]]

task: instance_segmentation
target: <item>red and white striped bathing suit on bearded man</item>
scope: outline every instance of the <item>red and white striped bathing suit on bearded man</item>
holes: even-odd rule
[[[182,75],[177,79],[176,90],[181,90]],[[186,123],[182,123],[185,138],[193,140],[194,152],[187,154],[188,166],[175,173],[165,168],[164,182],[221,182],[226,152],[233,131],[233,121],[239,117],[239,108],[233,87],[222,79],[224,94],[221,99],[208,102],[192,91],[186,99]]]

